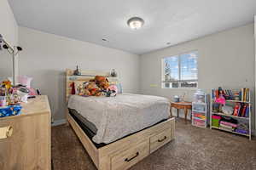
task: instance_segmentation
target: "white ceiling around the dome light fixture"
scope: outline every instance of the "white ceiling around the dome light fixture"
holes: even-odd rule
[[[253,22],[256,0],[9,0],[20,26],[134,54]],[[126,21],[139,16],[141,30]],[[107,39],[107,42],[102,41]],[[166,45],[167,42],[170,42]]]

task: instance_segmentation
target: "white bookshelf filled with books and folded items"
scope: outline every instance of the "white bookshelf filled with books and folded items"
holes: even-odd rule
[[[224,98],[224,104],[219,102]],[[211,128],[252,138],[252,111],[249,88],[212,89]]]

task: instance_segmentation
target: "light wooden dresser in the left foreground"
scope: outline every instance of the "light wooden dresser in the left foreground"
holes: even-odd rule
[[[47,96],[22,104],[19,116],[0,118],[0,169],[50,169],[50,109]],[[4,137],[6,136],[6,137]]]

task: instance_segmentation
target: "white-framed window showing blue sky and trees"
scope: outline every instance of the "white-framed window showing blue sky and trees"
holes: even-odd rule
[[[162,88],[197,88],[198,52],[162,59]]]

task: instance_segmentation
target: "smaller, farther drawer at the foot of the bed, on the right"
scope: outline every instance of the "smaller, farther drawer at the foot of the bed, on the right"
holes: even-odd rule
[[[159,149],[164,144],[172,140],[172,129],[167,128],[162,133],[150,137],[150,153]]]

